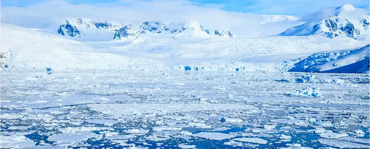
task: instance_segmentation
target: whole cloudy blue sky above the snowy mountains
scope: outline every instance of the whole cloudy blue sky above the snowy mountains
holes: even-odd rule
[[[369,13],[370,0],[0,0],[0,22],[56,30],[69,18],[139,24],[197,21],[208,29],[274,35],[305,22],[332,17],[350,3]],[[295,22],[261,25],[260,14],[296,15]]]

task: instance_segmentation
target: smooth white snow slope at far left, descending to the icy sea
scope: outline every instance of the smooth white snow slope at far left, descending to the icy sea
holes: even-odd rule
[[[0,33],[1,67],[104,69],[152,62],[145,58],[94,53],[96,47],[11,24],[0,24]]]

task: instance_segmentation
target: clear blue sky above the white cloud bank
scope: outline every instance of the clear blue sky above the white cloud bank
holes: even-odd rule
[[[1,6],[26,7],[48,0],[0,0]],[[65,0],[70,4],[114,3],[135,0]],[[164,0],[166,1],[166,0]],[[167,0],[171,1],[171,0]],[[173,0],[176,1],[176,0]],[[179,1],[179,0],[178,0]],[[350,3],[355,7],[367,8],[370,0],[190,0],[196,6],[219,7],[225,11],[250,12],[255,14],[302,15],[323,7],[336,7]],[[122,2],[121,2],[122,3]]]

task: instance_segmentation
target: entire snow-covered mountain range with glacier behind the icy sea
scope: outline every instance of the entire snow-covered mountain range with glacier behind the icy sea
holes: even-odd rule
[[[356,11],[339,6],[333,17],[260,37],[211,30],[196,21],[124,25],[67,19],[53,31],[0,23],[0,67],[369,72],[370,17]],[[302,21],[261,16],[261,25]]]

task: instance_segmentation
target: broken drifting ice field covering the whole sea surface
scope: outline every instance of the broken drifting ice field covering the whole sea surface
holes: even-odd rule
[[[0,76],[0,148],[370,148],[369,74]]]

